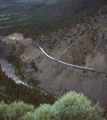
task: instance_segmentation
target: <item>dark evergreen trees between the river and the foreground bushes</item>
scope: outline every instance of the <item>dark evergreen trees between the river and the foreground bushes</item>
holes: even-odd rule
[[[35,81],[37,83],[38,80]],[[0,86],[4,86],[5,91],[1,91],[0,100],[6,103],[22,100],[25,103],[33,104],[37,107],[40,104],[49,103],[53,104],[56,100],[52,94],[41,93],[40,90],[31,89],[22,84],[16,84],[11,78],[8,78],[0,68]],[[2,90],[2,89],[1,89]]]

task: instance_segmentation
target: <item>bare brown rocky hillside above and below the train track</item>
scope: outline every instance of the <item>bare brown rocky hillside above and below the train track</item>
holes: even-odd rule
[[[2,38],[8,44],[23,41],[26,49],[21,54],[26,67],[22,66],[25,80],[38,78],[38,87],[62,96],[66,92],[84,93],[94,104],[99,102],[107,108],[107,74],[86,72],[63,66],[46,58],[40,50],[24,43],[31,39],[22,39],[17,34]],[[93,17],[84,17],[83,22],[72,24],[50,35],[38,36],[35,41],[51,56],[76,65],[107,72],[107,6]],[[31,62],[38,71],[30,68]]]

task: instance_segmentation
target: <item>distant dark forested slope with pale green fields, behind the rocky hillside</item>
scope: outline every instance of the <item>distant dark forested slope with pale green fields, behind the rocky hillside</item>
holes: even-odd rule
[[[36,37],[70,26],[105,4],[105,0],[59,0],[58,2],[9,1],[0,4],[0,34],[24,33]],[[50,4],[49,4],[50,3]]]

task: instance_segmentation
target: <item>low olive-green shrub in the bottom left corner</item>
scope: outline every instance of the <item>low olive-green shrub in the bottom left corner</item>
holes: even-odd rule
[[[27,112],[33,112],[34,106],[23,102],[14,102],[10,105],[0,102],[0,120],[16,120]]]

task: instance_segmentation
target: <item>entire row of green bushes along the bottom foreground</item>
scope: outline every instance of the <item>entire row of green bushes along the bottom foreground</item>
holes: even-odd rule
[[[36,109],[23,102],[10,105],[0,102],[0,120],[106,120],[102,113],[99,106],[91,106],[90,100],[76,92],[67,93],[53,105],[41,104]]]

